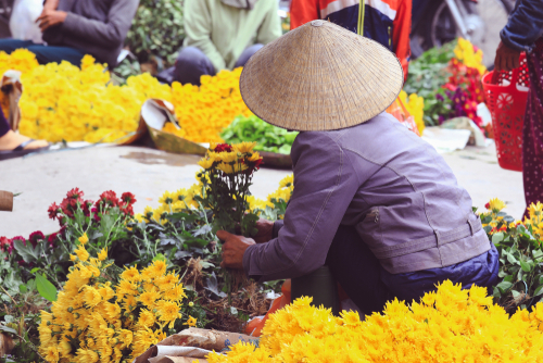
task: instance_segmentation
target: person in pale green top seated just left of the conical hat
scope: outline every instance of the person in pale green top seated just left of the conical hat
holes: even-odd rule
[[[200,85],[200,76],[243,66],[282,34],[277,0],[185,0],[184,47],[174,80]]]

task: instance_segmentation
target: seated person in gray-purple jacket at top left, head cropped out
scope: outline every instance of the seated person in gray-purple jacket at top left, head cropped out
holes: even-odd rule
[[[26,48],[39,63],[68,61],[80,65],[91,54],[110,68],[117,64],[139,0],[46,0],[36,21],[46,45],[30,40],[0,39],[0,50]]]

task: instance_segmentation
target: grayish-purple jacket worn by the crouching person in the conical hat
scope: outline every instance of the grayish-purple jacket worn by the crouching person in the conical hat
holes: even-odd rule
[[[443,158],[391,115],[332,132],[300,133],[294,192],[278,237],[243,255],[260,280],[325,263],[340,224],[355,226],[392,274],[444,267],[490,249],[471,198]]]

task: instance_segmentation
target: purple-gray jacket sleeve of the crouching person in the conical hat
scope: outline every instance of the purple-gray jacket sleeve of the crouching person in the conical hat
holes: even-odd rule
[[[245,274],[261,281],[302,276],[324,265],[359,186],[349,155],[326,133],[300,133],[291,157],[294,192],[285,225],[277,238],[249,247],[243,255]]]

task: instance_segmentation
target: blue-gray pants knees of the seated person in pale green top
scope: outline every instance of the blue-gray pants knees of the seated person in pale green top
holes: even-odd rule
[[[263,45],[248,47],[239,57],[235,67],[243,66],[249,59],[258,51]],[[175,62],[174,80],[185,84],[200,86],[200,77],[203,75],[214,76],[216,74],[213,63],[207,55],[197,47],[186,47],[179,51]]]

